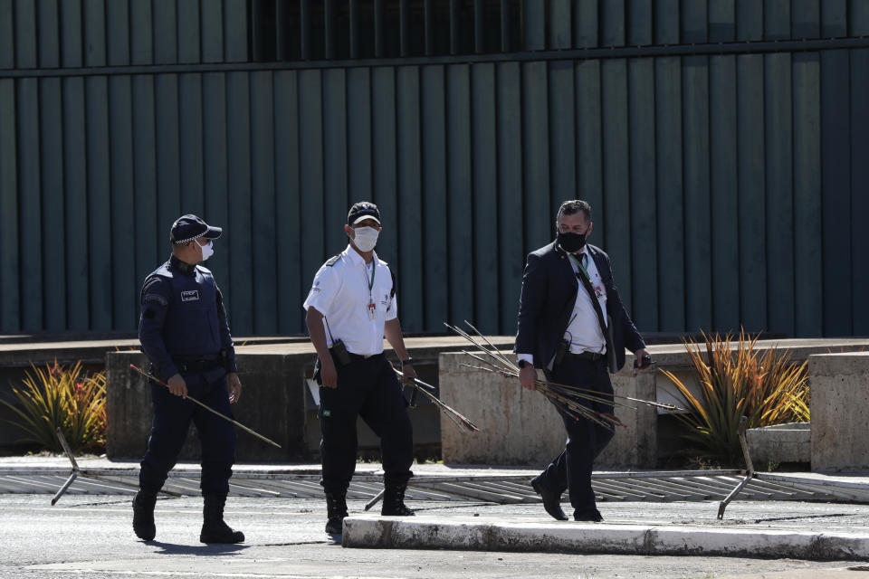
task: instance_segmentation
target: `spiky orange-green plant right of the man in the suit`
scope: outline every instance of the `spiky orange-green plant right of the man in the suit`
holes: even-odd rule
[[[807,362],[790,362],[788,350],[760,352],[758,337],[744,330],[732,347],[731,334],[704,332],[702,336],[705,352],[701,344],[684,340],[699,395],[672,372],[662,370],[687,410],[673,414],[683,427],[685,454],[731,464],[740,461],[737,429],[742,415],[748,417],[748,428],[808,421]]]

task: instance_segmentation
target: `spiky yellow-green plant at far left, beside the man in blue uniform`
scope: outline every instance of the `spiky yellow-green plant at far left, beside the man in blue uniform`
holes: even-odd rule
[[[24,442],[43,450],[62,452],[59,427],[74,453],[101,451],[106,437],[106,374],[88,375],[81,362],[72,367],[53,365],[37,368],[24,376],[24,385],[13,388],[17,401],[0,400],[15,414],[10,422],[24,431]]]

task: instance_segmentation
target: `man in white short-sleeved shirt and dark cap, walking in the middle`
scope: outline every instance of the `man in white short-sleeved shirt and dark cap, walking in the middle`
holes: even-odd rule
[[[410,378],[416,373],[397,317],[395,274],[374,252],[382,231],[377,205],[360,202],[350,207],[344,231],[347,249],[320,267],[303,305],[319,356],[320,484],[326,491],[326,532],[331,534],[341,533],[347,517],[358,416],[380,437],[386,488],[381,514],[414,514],[404,503],[413,475],[413,432],[401,385],[383,354],[384,337],[402,360],[402,372]]]

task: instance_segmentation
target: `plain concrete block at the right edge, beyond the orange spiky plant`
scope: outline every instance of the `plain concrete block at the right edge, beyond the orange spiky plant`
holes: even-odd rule
[[[869,470],[869,353],[811,356],[812,470]]]

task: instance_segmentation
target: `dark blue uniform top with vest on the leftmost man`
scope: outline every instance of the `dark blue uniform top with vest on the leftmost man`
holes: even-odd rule
[[[145,279],[141,304],[138,341],[158,376],[178,374],[172,356],[214,356],[222,350],[226,371],[237,371],[224,299],[211,271],[173,255]]]

